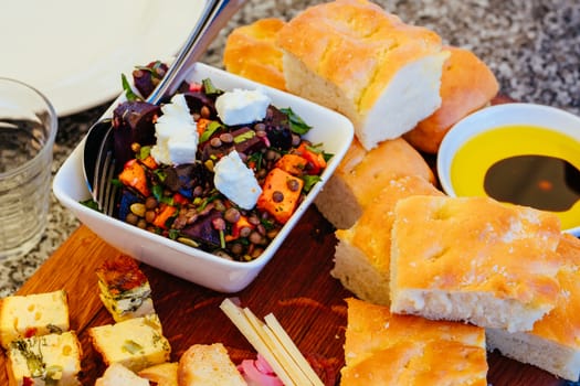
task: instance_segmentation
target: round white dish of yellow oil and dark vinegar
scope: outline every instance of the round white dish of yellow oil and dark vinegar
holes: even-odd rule
[[[580,236],[580,117],[534,104],[484,108],[447,132],[436,168],[450,196],[488,195],[553,212],[563,230]]]

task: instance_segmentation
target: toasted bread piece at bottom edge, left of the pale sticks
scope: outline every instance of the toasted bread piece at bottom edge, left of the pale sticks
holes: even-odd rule
[[[246,385],[221,343],[190,346],[179,358],[177,376],[180,386]]]

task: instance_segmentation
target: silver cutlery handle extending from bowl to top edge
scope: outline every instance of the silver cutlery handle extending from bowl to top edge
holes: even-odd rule
[[[183,82],[189,69],[205,52],[220,30],[240,9],[245,0],[207,0],[201,18],[188,40],[179,51],[176,60],[147,101],[157,105],[166,96],[175,94]]]

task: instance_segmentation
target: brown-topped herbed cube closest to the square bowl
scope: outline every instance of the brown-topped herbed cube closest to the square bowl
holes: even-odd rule
[[[149,280],[131,257],[106,260],[96,274],[101,300],[116,322],[155,313]]]

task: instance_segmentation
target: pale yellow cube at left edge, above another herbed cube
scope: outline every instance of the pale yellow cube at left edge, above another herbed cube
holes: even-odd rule
[[[64,290],[2,299],[0,343],[30,336],[68,331],[68,302]]]

